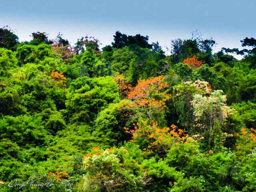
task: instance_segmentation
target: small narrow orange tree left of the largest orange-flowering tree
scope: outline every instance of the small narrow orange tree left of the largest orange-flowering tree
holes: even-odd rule
[[[132,89],[132,86],[129,84],[129,80],[121,74],[114,76],[114,81],[118,84],[120,99],[126,98],[127,94]]]

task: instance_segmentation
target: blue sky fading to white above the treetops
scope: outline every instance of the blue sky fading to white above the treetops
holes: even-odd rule
[[[198,30],[203,39],[216,41],[218,52],[256,38],[255,8],[255,0],[4,0],[0,27],[15,29],[19,41],[31,40],[32,32],[46,32],[50,39],[60,32],[72,44],[94,36],[101,47],[111,44],[118,30],[148,35],[149,43],[169,48],[171,40],[189,39]]]

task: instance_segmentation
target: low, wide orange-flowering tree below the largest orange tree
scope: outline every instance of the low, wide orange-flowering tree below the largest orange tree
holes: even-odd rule
[[[172,125],[170,128],[160,128],[154,120],[141,120],[134,129],[124,127],[126,132],[132,134],[132,140],[143,148],[144,151],[157,152],[161,154],[170,149],[174,144],[184,142],[188,134]]]

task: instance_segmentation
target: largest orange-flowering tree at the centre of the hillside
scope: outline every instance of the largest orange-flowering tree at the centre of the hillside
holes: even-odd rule
[[[126,110],[132,110],[135,118],[158,120],[164,118],[165,102],[171,98],[166,92],[168,85],[164,77],[152,77],[138,80],[138,85],[128,92],[127,98],[131,102],[121,102]]]

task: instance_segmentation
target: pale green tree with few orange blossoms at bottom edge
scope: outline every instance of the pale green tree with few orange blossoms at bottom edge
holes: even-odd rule
[[[150,180],[146,178],[147,171],[124,148],[104,151],[94,148],[93,154],[84,156],[82,169],[86,171],[83,178],[86,192],[139,192]]]

